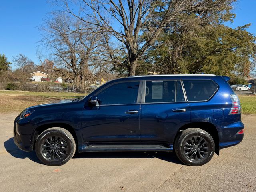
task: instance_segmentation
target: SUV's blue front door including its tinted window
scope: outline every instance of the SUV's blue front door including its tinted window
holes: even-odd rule
[[[99,106],[85,106],[82,114],[85,142],[139,141],[139,86],[139,81],[120,82],[96,93]]]

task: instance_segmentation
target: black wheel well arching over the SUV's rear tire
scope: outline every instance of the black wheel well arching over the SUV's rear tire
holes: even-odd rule
[[[219,155],[219,151],[220,151],[220,147],[219,147],[219,134],[218,134],[218,130],[216,128],[216,126],[214,126],[214,124],[209,123],[209,122],[193,122],[193,123],[189,123],[186,124],[182,127],[179,128],[175,138],[174,138],[174,142],[176,141],[176,138],[180,135],[180,133],[188,128],[200,128],[206,132],[208,132],[210,134],[210,136],[212,136],[214,143],[215,143],[215,153],[217,155]]]

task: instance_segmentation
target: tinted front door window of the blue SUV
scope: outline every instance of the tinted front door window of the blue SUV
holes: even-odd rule
[[[137,102],[140,82],[124,82],[114,84],[97,96],[101,105],[108,104],[131,104]]]

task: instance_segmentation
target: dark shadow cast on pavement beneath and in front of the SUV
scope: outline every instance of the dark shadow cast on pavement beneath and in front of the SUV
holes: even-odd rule
[[[9,138],[4,142],[4,147],[8,153],[13,157],[19,159],[29,158],[30,160],[42,164],[36,153],[25,152],[20,150],[13,141],[13,137]],[[158,158],[164,161],[182,164],[176,157],[174,152],[88,152],[88,153],[77,153],[73,157],[77,158]]]

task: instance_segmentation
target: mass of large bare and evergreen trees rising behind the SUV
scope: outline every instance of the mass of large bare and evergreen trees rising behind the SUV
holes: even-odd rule
[[[102,74],[255,74],[254,34],[226,26],[236,0],[55,0],[40,27],[55,71],[80,89]],[[53,68],[54,68],[53,67]],[[60,70],[61,69],[61,70]]]

